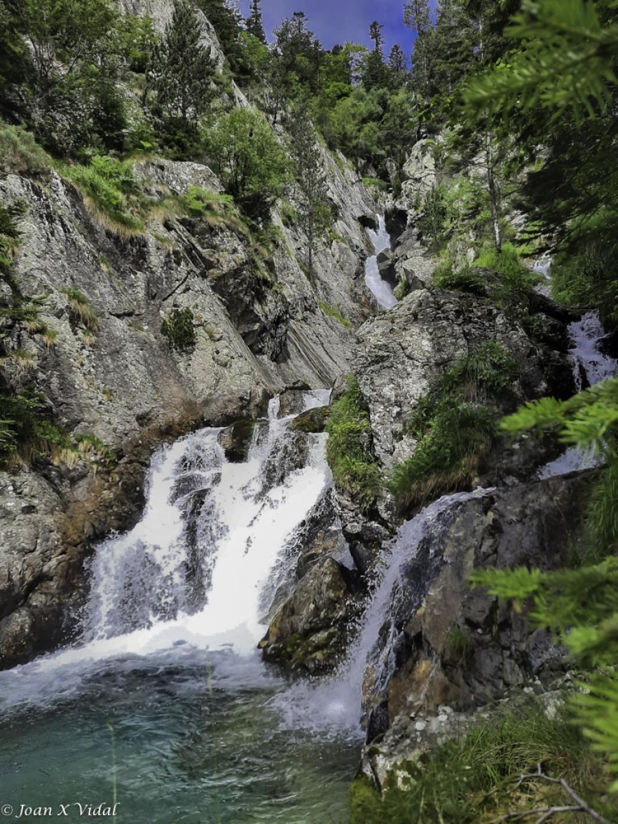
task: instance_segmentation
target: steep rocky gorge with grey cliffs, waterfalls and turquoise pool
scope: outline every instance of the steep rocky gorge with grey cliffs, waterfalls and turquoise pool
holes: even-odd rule
[[[162,35],[174,3],[122,11]],[[243,91],[195,13],[214,119],[268,111],[276,77]],[[291,151],[289,119],[263,119]],[[427,131],[399,163],[354,167],[325,128],[327,217],[309,223],[298,178],[254,220],[205,162],[147,143],[128,166],[94,152],[128,175],[133,228],[79,184],[81,158],[2,168],[0,206],[26,207],[2,298],[18,283],[46,335],[7,324],[0,390],[53,423],[30,466],[0,471],[0,739],[26,765],[0,748],[12,802],[47,803],[32,727],[58,742],[54,800],[73,750],[87,793],[109,795],[106,723],[134,820],[344,822],[360,756],[366,824],[428,752],[571,684],[531,605],[470,577],[589,550],[602,458],[500,421],[615,377],[615,336],[548,297],[508,196],[513,244],[488,250],[489,162]],[[361,177],[380,163],[388,194]]]

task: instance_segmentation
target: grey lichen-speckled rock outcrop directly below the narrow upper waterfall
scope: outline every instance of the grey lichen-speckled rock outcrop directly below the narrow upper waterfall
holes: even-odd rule
[[[390,467],[414,452],[405,420],[432,382],[477,344],[494,340],[512,353],[520,377],[517,401],[547,393],[550,369],[522,327],[480,298],[418,290],[358,330],[354,372],[369,405],[374,446]],[[556,354],[567,363],[564,354]]]

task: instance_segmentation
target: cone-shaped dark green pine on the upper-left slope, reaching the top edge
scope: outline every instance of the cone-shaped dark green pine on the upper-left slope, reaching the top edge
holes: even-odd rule
[[[215,65],[201,43],[199,18],[190,0],[175,0],[171,23],[157,44],[148,69],[149,86],[167,116],[188,124],[213,99]]]

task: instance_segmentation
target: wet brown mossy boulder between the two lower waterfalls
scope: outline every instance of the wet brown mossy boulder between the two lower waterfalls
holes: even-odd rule
[[[269,626],[260,649],[266,661],[293,670],[324,672],[344,650],[349,589],[337,562],[318,559]]]

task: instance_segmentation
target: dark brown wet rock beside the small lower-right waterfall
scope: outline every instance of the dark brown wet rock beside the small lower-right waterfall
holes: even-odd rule
[[[547,689],[563,676],[564,651],[550,634],[468,578],[487,567],[564,566],[591,480],[580,473],[466,500],[438,541],[410,546],[391,607],[396,667],[386,680],[377,673],[384,687],[372,698],[391,723],[439,705],[485,705],[538,679]]]

